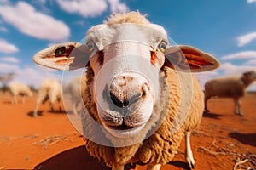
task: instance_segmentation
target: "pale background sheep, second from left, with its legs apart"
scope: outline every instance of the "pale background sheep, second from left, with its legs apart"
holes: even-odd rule
[[[44,79],[38,88],[38,99],[36,107],[33,111],[33,116],[38,116],[38,106],[44,104],[49,99],[51,111],[54,111],[53,104],[57,100],[61,111],[61,83],[55,79]]]

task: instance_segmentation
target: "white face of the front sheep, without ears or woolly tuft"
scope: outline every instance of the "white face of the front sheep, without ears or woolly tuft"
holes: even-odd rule
[[[166,31],[157,25],[99,25],[86,42],[97,47],[90,66],[102,125],[116,137],[130,137],[148,122],[158,100]]]

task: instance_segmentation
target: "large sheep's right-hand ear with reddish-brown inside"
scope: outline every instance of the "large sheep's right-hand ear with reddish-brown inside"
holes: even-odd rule
[[[173,46],[166,48],[166,66],[180,71],[211,71],[218,68],[218,59],[211,54],[206,54],[200,49],[190,46]]]

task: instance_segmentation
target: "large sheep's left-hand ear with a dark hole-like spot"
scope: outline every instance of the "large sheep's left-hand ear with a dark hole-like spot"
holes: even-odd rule
[[[78,42],[67,42],[39,51],[33,56],[33,60],[38,65],[64,71],[85,67],[89,55],[87,46]]]

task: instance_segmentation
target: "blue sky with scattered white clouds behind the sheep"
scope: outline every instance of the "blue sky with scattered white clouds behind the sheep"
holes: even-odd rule
[[[166,28],[177,44],[213,54],[216,71],[197,74],[203,85],[212,77],[239,75],[256,68],[256,0],[0,0],[0,73],[36,87],[60,71],[35,65],[33,54],[59,42],[79,42],[90,26],[113,12],[139,10]],[[256,83],[249,88],[256,90]]]

